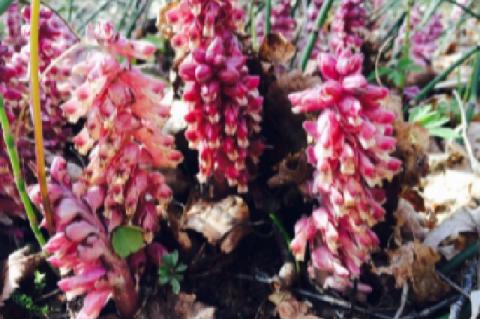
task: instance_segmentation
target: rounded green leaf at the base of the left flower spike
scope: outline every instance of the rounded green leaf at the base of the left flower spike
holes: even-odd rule
[[[128,257],[145,246],[142,229],[135,226],[121,226],[115,229],[112,246],[120,257]]]

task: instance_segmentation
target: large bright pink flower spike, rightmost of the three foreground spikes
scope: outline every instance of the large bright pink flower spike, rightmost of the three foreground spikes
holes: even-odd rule
[[[371,227],[384,215],[380,186],[401,168],[389,155],[396,144],[394,114],[380,104],[388,90],[368,84],[362,63],[362,54],[350,50],[322,53],[325,82],[290,95],[295,112],[319,112],[304,128],[313,139],[307,149],[315,168],[310,189],[320,203],[297,222],[291,249],[303,260],[308,245],[311,275],[340,290],[359,277],[378,245]]]

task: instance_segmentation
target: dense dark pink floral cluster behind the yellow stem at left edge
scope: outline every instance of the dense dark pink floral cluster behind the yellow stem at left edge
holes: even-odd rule
[[[16,135],[17,148],[24,165],[27,182],[33,182],[29,163],[34,159],[33,145],[28,121],[29,106],[29,22],[30,8],[21,10],[17,3],[7,9],[5,15],[5,37],[0,43],[0,94],[4,97],[5,108],[10,117],[12,130]],[[52,11],[42,7],[40,15],[40,70],[43,72],[50,63],[75,43],[73,33]],[[65,121],[59,104],[66,99],[58,87],[69,70],[61,65],[51,68],[42,77],[43,129],[46,147],[58,150],[66,141]],[[0,212],[21,215],[22,207],[13,183],[9,160],[3,141],[0,141]]]

